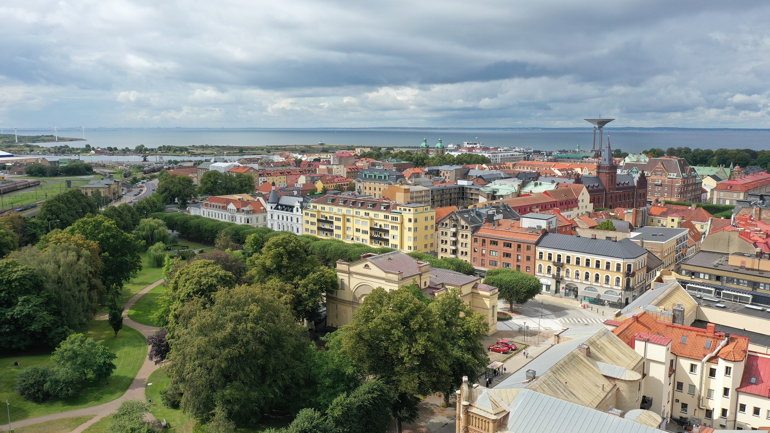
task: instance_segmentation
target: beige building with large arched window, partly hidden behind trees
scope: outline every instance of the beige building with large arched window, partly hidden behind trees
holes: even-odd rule
[[[428,297],[440,296],[447,290],[460,290],[460,297],[478,311],[489,324],[489,335],[497,332],[497,287],[452,270],[430,268],[406,253],[363,254],[361,260],[336,263],[340,288],[326,297],[326,323],[342,327],[353,319],[353,313],[376,287],[397,290],[417,284]]]

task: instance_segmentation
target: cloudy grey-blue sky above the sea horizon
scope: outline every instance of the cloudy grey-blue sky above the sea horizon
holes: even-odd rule
[[[770,2],[24,0],[0,124],[770,128]]]

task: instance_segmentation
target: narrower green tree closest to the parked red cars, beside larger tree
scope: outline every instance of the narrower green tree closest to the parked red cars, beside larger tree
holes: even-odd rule
[[[444,382],[444,404],[449,406],[450,394],[460,387],[463,376],[475,378],[489,364],[484,334],[489,325],[473,308],[460,299],[460,290],[450,290],[434,299],[428,307],[440,321],[437,339],[447,343],[449,372]]]

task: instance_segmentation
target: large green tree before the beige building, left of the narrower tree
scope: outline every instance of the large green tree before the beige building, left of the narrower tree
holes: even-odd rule
[[[399,433],[403,421],[417,417],[420,397],[443,388],[450,374],[439,334],[435,314],[403,287],[374,289],[346,327],[343,353],[396,394],[391,410]]]

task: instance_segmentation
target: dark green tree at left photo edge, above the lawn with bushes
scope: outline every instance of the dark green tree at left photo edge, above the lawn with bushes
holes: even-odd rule
[[[5,350],[52,346],[70,332],[43,278],[18,260],[0,260],[0,329]]]

